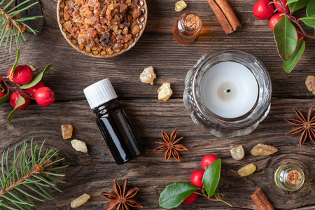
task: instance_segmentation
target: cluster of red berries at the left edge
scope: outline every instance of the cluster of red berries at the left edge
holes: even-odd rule
[[[38,82],[33,87],[29,87],[27,92],[20,88],[20,85],[27,85],[33,80],[33,71],[31,67],[24,66],[16,66],[15,71],[11,73],[12,68],[8,70],[8,76],[2,77],[2,80],[10,81],[11,83],[17,85],[16,87],[11,87],[9,85],[6,86],[13,90],[13,94],[10,96],[10,104],[15,108],[18,103],[19,97],[23,97],[25,99],[25,104],[20,106],[18,109],[26,109],[29,106],[30,99],[35,99],[36,103],[39,106],[50,106],[53,102],[55,102],[55,94],[49,87],[45,87],[42,82]],[[0,79],[1,83],[1,79]],[[4,97],[6,94],[4,90],[0,90],[0,98]]]

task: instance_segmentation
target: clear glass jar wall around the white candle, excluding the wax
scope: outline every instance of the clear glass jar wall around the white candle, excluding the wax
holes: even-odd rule
[[[211,112],[202,99],[201,83],[211,66],[221,62],[236,62],[246,66],[258,84],[258,98],[253,108],[243,116],[224,118]],[[257,57],[239,50],[220,50],[203,55],[186,76],[183,101],[194,123],[216,137],[230,138],[250,134],[269,113],[272,84],[269,73]]]

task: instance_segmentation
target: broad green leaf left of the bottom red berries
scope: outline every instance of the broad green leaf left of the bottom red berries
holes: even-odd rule
[[[198,187],[186,182],[175,182],[168,185],[160,195],[159,205],[165,209],[176,208],[189,195],[199,190]]]

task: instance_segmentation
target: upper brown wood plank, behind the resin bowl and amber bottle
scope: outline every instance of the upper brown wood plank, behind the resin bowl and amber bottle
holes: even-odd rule
[[[207,1],[188,1],[188,8],[184,11],[200,14],[204,29],[195,43],[181,45],[172,36],[172,27],[179,16],[174,11],[174,2],[149,1],[149,20],[139,43],[119,57],[93,59],[71,48],[62,37],[55,14],[57,0],[41,2],[45,15],[43,33],[29,37],[27,45],[22,45],[20,64],[33,64],[39,70],[52,62],[53,66],[43,81],[55,90],[58,101],[84,99],[83,87],[99,78],[111,78],[120,97],[151,99],[155,98],[159,85],[169,81],[174,89],[173,97],[179,98],[190,66],[204,53],[225,48],[245,50],[261,59],[272,78],[274,97],[314,98],[304,86],[304,80],[309,74],[314,74],[312,49],[315,42],[307,42],[296,69],[290,74],[286,73],[277,55],[267,20],[257,20],[251,13],[253,3],[244,6],[244,1],[231,1],[244,27],[227,35]],[[0,52],[1,72],[5,72],[14,62],[15,55],[7,55],[7,52]],[[155,85],[145,87],[139,81],[139,74],[150,65],[155,67],[158,78]],[[64,94],[64,90],[67,94]]]

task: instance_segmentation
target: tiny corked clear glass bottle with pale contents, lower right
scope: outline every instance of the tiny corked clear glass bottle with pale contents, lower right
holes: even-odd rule
[[[276,186],[283,190],[295,191],[304,183],[304,172],[296,165],[282,165],[274,174]]]

